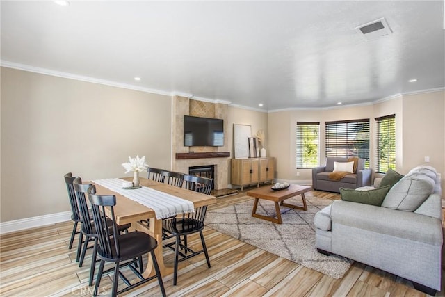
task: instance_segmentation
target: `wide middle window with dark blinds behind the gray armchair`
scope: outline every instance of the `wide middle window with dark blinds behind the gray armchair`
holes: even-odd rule
[[[358,156],[369,165],[369,119],[325,122],[326,156]]]

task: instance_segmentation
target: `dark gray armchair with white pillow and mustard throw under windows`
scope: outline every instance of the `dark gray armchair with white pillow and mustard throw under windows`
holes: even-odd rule
[[[365,159],[359,159],[355,173],[346,175],[339,181],[329,178],[330,173],[334,171],[334,162],[346,162],[347,160],[346,157],[327,157],[325,166],[312,168],[312,188],[340,193],[340,188],[371,186],[372,169],[364,168]]]

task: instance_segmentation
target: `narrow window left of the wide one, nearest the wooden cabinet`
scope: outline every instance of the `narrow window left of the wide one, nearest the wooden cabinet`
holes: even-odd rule
[[[297,122],[297,168],[318,166],[319,122]]]

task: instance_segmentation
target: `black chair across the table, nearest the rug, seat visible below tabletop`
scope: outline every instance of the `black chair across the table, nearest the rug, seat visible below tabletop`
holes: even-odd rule
[[[196,191],[209,195],[211,191],[211,186],[213,179],[206,177],[197,177],[194,175],[185,175],[184,181],[186,182],[186,188],[191,191]],[[207,212],[207,205],[203,207],[197,207],[195,212],[184,214],[184,216],[176,216],[174,218],[163,220],[163,234],[165,234],[165,239],[169,237],[175,237],[175,241],[171,243],[166,243],[164,247],[170,248],[175,252],[175,266],[173,270],[173,284],[177,284],[177,271],[178,264],[186,259],[200,255],[204,252],[206,257],[207,266],[210,268],[209,253],[207,252],[206,243],[204,241],[204,218]],[[193,233],[200,233],[202,250],[192,250],[187,245],[187,235]],[[181,239],[183,236],[184,239]],[[184,250],[184,252],[182,252]],[[189,255],[186,255],[190,252]],[[181,256],[181,259],[179,259]]]

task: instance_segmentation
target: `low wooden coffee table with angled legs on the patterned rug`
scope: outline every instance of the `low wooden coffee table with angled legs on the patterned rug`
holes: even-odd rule
[[[291,184],[289,188],[286,188],[284,190],[280,191],[273,191],[270,187],[264,186],[262,188],[255,188],[254,190],[248,191],[248,196],[255,198],[255,203],[253,204],[252,209],[252,216],[255,218],[262,218],[264,220],[269,220],[270,222],[282,224],[283,221],[281,219],[282,212],[280,211],[280,206],[278,205],[278,202],[280,202],[280,205],[284,207],[291,207],[293,209],[302,209],[307,210],[306,205],[306,198],[305,193],[312,191],[312,187],[310,186],[299,186],[298,184]],[[294,197],[296,195],[301,195],[303,206],[297,206],[293,204],[284,203],[284,200],[289,199],[291,197]],[[274,216],[263,216],[262,214],[257,214],[257,206],[258,206],[258,200],[265,199],[270,200],[275,203],[275,211],[276,215]],[[277,218],[275,218],[275,216]]]

